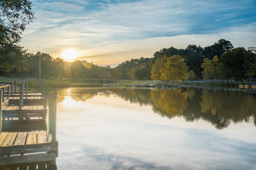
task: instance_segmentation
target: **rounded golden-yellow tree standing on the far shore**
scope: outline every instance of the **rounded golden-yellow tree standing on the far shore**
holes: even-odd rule
[[[160,68],[160,72],[163,80],[181,81],[181,79],[188,79],[188,67],[179,55],[169,57],[164,63],[164,67]]]

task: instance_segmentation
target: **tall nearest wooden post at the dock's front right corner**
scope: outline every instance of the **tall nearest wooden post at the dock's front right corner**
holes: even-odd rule
[[[57,92],[49,94],[49,132],[52,133],[52,142],[56,142],[56,113],[57,113]]]

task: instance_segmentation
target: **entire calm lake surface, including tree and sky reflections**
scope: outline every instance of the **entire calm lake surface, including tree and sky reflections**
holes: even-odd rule
[[[58,169],[256,169],[256,96],[206,89],[58,91]]]

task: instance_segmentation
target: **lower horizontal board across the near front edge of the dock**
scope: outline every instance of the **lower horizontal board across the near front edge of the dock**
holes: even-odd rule
[[[55,161],[55,153],[45,153],[45,154],[24,154],[13,157],[0,157],[0,165],[5,164],[21,164],[30,162],[48,162]]]

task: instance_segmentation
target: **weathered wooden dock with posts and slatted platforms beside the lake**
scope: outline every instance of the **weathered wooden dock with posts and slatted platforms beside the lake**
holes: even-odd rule
[[[0,86],[0,169],[56,168],[57,93],[48,97],[45,88],[41,93],[28,93],[28,85],[25,93],[22,83],[18,94],[13,87],[13,82],[11,87]]]

